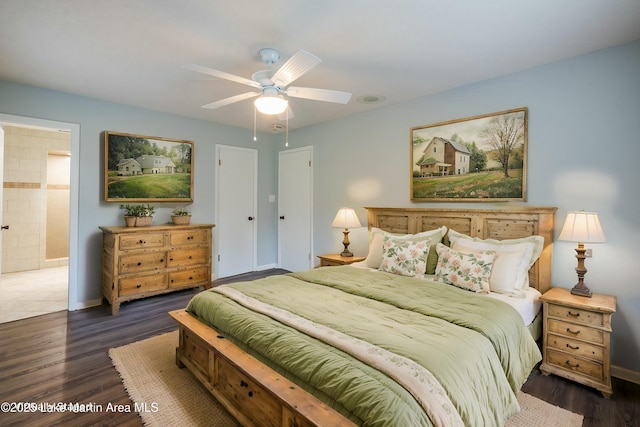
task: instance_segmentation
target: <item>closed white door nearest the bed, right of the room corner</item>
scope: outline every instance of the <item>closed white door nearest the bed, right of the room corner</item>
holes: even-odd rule
[[[290,271],[313,267],[312,154],[312,147],[279,154],[278,260]]]

